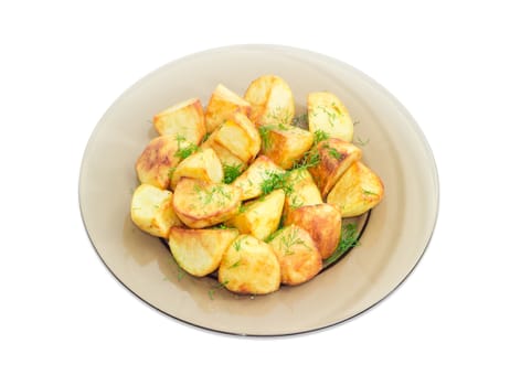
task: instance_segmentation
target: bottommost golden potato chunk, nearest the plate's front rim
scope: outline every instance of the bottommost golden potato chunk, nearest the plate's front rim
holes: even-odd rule
[[[217,280],[232,292],[270,293],[279,289],[280,267],[272,247],[241,235],[223,254]]]

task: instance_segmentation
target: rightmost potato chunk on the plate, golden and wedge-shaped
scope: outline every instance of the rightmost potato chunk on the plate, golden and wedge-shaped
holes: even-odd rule
[[[384,195],[381,179],[362,162],[354,162],[338,180],[327,202],[342,217],[359,216],[378,205]]]

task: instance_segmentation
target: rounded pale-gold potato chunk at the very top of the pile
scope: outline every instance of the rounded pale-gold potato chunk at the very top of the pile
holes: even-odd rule
[[[276,75],[263,75],[253,81],[244,98],[252,105],[249,119],[258,127],[290,124],[295,114],[294,95],[289,85]]]

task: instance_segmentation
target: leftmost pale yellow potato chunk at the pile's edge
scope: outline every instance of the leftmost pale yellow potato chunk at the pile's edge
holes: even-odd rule
[[[141,230],[164,238],[172,226],[182,225],[173,211],[172,192],[150,184],[141,184],[132,193],[131,219]]]

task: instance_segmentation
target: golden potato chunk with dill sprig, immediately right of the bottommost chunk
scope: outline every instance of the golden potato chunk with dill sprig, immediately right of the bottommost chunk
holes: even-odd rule
[[[279,229],[268,244],[278,258],[284,285],[300,285],[322,269],[322,258],[314,239],[299,226]]]

